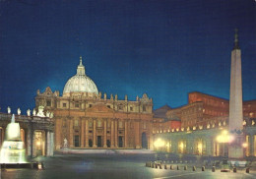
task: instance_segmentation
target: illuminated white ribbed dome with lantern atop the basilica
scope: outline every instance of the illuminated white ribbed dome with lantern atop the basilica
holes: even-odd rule
[[[63,96],[69,96],[71,92],[85,92],[88,95],[98,94],[96,84],[86,75],[85,66],[82,64],[82,57],[80,57],[77,75],[68,80],[63,90]]]

